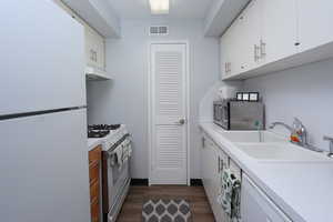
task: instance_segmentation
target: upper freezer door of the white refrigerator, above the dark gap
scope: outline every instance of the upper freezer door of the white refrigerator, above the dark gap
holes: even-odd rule
[[[0,115],[85,104],[84,30],[53,1],[0,7]]]

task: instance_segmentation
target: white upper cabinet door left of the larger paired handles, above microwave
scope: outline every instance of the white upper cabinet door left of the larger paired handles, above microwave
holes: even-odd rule
[[[260,38],[261,38],[262,6],[253,0],[240,17],[242,29],[239,33],[241,53],[241,72],[252,70],[260,62]]]

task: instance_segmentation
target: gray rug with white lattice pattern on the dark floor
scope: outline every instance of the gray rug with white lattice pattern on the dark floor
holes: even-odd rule
[[[185,200],[148,200],[142,208],[143,222],[191,222],[190,203]]]

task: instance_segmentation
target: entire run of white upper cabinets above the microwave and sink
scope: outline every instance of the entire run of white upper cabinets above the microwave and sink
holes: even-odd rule
[[[332,12],[329,0],[252,0],[221,38],[222,79],[332,58]]]

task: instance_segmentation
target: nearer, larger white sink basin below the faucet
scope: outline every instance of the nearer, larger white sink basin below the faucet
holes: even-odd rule
[[[323,153],[306,150],[291,143],[236,143],[249,157],[266,162],[330,162]]]

